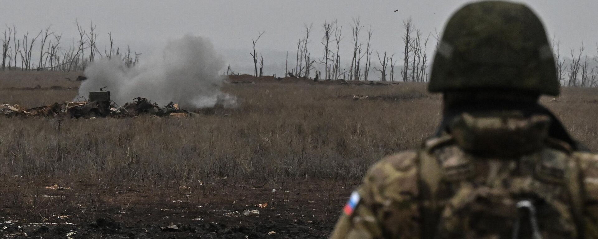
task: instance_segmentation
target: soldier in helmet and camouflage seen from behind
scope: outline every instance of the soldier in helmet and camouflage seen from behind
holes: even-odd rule
[[[331,238],[598,238],[598,155],[538,103],[559,85],[532,10],[461,8],[429,82],[437,133],[370,168]]]

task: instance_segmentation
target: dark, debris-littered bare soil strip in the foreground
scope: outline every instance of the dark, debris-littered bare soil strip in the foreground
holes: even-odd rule
[[[327,238],[351,188],[7,184],[0,238]]]

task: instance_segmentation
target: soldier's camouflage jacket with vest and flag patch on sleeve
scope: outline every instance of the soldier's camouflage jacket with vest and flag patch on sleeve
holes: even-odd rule
[[[546,121],[466,122],[383,158],[331,238],[598,238],[598,155],[547,137]]]

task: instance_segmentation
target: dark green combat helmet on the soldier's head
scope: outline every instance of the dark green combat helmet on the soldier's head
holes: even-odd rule
[[[532,10],[522,4],[469,4],[447,23],[428,90],[524,91],[559,94],[551,46]]]

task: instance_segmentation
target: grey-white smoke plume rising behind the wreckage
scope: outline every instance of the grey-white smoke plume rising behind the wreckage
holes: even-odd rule
[[[77,97],[106,87],[118,105],[144,97],[158,105],[178,103],[181,108],[232,107],[236,97],[220,89],[224,78],[218,72],[224,60],[207,38],[185,35],[170,41],[161,55],[127,67],[118,57],[96,60],[85,70],[87,76]]]

